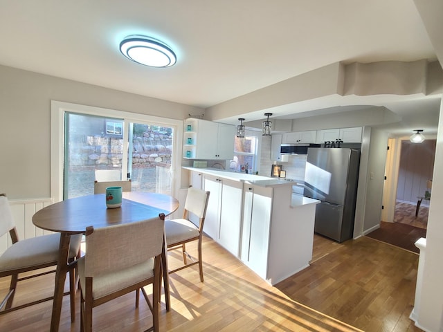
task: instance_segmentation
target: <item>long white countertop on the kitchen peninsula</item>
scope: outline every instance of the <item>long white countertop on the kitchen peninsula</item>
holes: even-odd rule
[[[197,167],[182,167],[193,172],[200,172],[203,174],[209,174],[213,176],[220,176],[221,178],[227,178],[233,181],[239,181],[249,183],[251,185],[260,185],[262,187],[275,187],[276,185],[296,185],[293,181],[285,181],[280,178],[270,178],[267,176],[260,176],[255,174],[245,174],[242,172],[229,172],[223,169],[209,169],[209,168],[197,168]]]

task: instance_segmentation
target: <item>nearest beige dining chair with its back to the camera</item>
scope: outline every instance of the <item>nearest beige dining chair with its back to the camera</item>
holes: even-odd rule
[[[141,288],[152,312],[152,328],[159,331],[161,254],[165,214],[105,228],[86,229],[85,255],[78,260],[80,275],[80,331],[92,331],[92,309]],[[144,286],[152,284],[152,304]]]

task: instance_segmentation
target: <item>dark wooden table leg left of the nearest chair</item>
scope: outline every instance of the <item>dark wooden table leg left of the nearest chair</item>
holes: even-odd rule
[[[51,332],[57,332],[60,326],[60,315],[62,313],[62,302],[64,293],[64,282],[66,273],[68,272],[68,255],[69,243],[71,235],[67,233],[60,233],[60,252],[57,262],[57,270],[55,270],[55,288],[53,313],[51,315]]]

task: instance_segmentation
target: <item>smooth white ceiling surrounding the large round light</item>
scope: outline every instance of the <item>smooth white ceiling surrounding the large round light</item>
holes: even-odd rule
[[[133,34],[177,64],[129,62]],[[0,0],[0,37],[2,65],[202,108],[335,62],[437,59],[413,0]],[[439,100],[384,106],[436,132]]]

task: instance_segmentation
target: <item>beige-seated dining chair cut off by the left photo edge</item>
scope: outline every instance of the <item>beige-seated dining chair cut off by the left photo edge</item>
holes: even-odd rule
[[[39,304],[50,299],[53,296],[44,299],[38,299],[33,302],[21,304],[12,307],[12,301],[17,291],[17,283],[33,277],[40,277],[48,273],[54,273],[55,270],[44,270],[40,273],[28,274],[24,277],[19,277],[21,273],[28,273],[30,271],[48,268],[50,266],[57,266],[60,248],[60,234],[48,234],[30,239],[19,241],[15,221],[12,218],[10,205],[6,194],[0,194],[0,237],[9,232],[12,241],[12,246],[3,252],[0,256],[0,277],[10,277],[9,291],[6,297],[0,304],[0,314],[15,311],[20,308]],[[75,234],[71,236],[71,243],[69,246],[69,295],[71,297],[71,321],[75,320],[75,291],[76,291],[76,277],[75,277],[75,259],[80,257],[80,241],[82,234]]]

